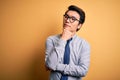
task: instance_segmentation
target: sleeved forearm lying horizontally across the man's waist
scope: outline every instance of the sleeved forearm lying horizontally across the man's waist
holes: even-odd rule
[[[85,64],[83,63],[80,65],[58,64],[56,66],[56,70],[60,71],[64,75],[80,77],[85,76],[88,72],[89,60]]]

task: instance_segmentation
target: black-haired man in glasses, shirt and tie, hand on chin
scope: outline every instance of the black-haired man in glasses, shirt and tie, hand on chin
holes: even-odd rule
[[[50,80],[82,80],[88,72],[90,47],[76,35],[84,21],[84,11],[71,5],[63,16],[63,32],[48,37],[45,63]]]

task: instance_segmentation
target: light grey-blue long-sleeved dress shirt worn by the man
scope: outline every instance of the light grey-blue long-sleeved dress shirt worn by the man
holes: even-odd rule
[[[68,80],[82,80],[90,64],[90,46],[87,41],[74,35],[70,42],[69,64],[63,63],[66,41],[60,35],[50,36],[46,40],[45,63],[51,69],[50,80],[60,80],[62,74]]]

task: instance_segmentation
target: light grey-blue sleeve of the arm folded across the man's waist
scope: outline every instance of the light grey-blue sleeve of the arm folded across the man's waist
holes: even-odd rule
[[[83,77],[88,72],[89,63],[90,63],[90,46],[88,43],[82,43],[82,50],[80,55],[79,65],[71,65],[71,64],[62,64],[59,63],[57,66],[57,70],[62,72],[64,75]]]

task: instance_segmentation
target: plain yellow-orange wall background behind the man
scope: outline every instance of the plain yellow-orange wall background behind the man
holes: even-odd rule
[[[71,4],[86,21],[77,33],[91,45],[83,80],[120,80],[119,0],[0,0],[0,80],[47,80],[45,40],[61,33]]]

